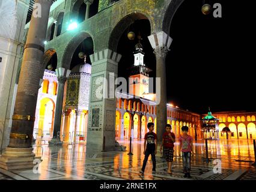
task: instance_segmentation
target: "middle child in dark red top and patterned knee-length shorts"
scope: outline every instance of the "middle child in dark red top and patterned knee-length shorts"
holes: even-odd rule
[[[163,152],[165,154],[165,158],[167,161],[167,166],[168,166],[168,173],[171,174],[171,165],[173,161],[173,153],[174,153],[174,142],[175,142],[175,134],[171,133],[171,125],[167,124],[165,126],[165,133],[163,133],[163,140],[162,140],[162,145],[160,147],[160,152]]]

